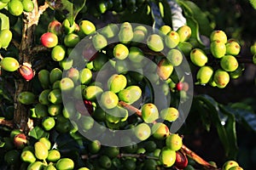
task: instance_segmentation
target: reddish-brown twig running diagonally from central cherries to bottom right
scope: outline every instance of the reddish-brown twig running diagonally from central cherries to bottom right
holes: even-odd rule
[[[124,101],[119,101],[119,105],[125,107],[130,111],[136,112],[137,116],[142,116],[142,112],[140,110],[132,105],[126,104]],[[193,152],[192,150],[189,150],[189,148],[187,148],[187,146],[185,146],[184,144],[182,145],[182,150],[187,156],[191,157],[197,163],[201,164],[201,166],[206,167],[207,169],[218,169],[217,167],[213,167],[210,163],[203,160],[200,156],[196,155],[195,152]]]

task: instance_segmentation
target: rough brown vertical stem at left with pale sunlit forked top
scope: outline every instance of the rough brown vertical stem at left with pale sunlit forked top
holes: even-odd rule
[[[32,56],[35,54],[35,51],[32,50],[35,46],[34,40],[34,32],[36,26],[38,26],[38,20],[40,15],[44,12],[46,8],[48,8],[47,3],[44,6],[38,8],[38,1],[33,0],[34,9],[31,13],[24,12],[23,15],[23,28],[22,28],[22,37],[19,46],[19,62],[20,64],[27,63],[31,65]],[[20,130],[28,133],[29,127],[27,125],[28,122],[28,112],[29,108],[26,105],[22,105],[19,103],[17,97],[21,92],[31,91],[31,83],[26,82],[24,79],[16,79],[15,80],[15,116],[14,122],[15,127]]]

